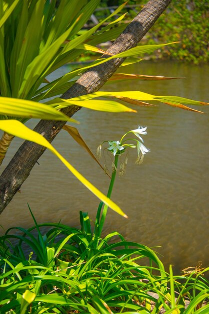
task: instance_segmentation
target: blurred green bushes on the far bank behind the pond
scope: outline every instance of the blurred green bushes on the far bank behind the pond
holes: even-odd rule
[[[172,0],[165,13],[146,34],[143,43],[180,41],[178,45],[160,49],[156,56],[194,64],[208,62],[208,9],[207,0]]]

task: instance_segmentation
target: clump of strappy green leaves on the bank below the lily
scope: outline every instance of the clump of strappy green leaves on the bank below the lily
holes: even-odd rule
[[[34,222],[0,238],[1,313],[208,312],[209,268],[167,273],[153,250],[117,232],[96,239],[87,213],[81,230]]]

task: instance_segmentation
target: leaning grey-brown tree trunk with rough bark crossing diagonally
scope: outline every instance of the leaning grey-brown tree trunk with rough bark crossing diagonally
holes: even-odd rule
[[[135,47],[170,2],[171,0],[149,0],[107,51],[117,54]],[[96,92],[123,61],[122,58],[112,59],[105,64],[87,70],[61,98],[68,99]],[[70,106],[62,111],[71,117],[79,109],[80,107]],[[51,142],[64,124],[64,121],[40,120],[34,130]],[[29,176],[31,169],[45,149],[45,147],[30,141],[25,141],[19,147],[0,176],[0,213]]]

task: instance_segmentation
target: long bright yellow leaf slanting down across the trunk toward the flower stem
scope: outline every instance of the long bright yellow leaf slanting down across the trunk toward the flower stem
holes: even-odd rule
[[[54,153],[59,158],[59,160],[66,166],[66,168],[99,200],[101,200],[104,204],[106,204],[108,207],[110,207],[112,210],[114,210],[121,216],[127,218],[127,216],[114,202],[108,199],[103,193],[101,193],[89,181],[87,181],[73,166],[71,166],[62,157],[62,155],[42,135],[29,129],[28,127],[26,127],[24,124],[17,120],[0,120],[0,129],[6,133],[12,134],[20,138],[24,138],[26,140],[32,141],[36,144],[48,148],[52,153]]]

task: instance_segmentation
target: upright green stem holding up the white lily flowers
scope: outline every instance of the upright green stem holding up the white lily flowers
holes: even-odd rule
[[[114,158],[115,169],[117,168],[118,157],[119,157],[119,155],[116,154],[115,158]],[[109,199],[111,197],[111,193],[112,193],[112,189],[113,189],[113,185],[114,185],[114,180],[115,180],[115,176],[116,176],[116,170],[115,169],[112,171],[111,180],[110,180],[110,184],[109,184],[109,189],[108,189],[108,192],[107,192],[107,197]],[[101,235],[101,231],[102,231],[102,228],[103,228],[103,224],[104,224],[104,221],[105,221],[105,218],[106,218],[107,209],[108,209],[108,206],[106,204],[104,204],[103,212],[102,212],[101,219],[100,219],[100,213],[101,213],[102,206],[103,206],[103,202],[100,202],[99,206],[98,206],[98,209],[97,209],[96,221],[95,221],[95,236],[96,237],[100,237],[100,235]],[[99,219],[100,219],[100,221],[99,221]]]

